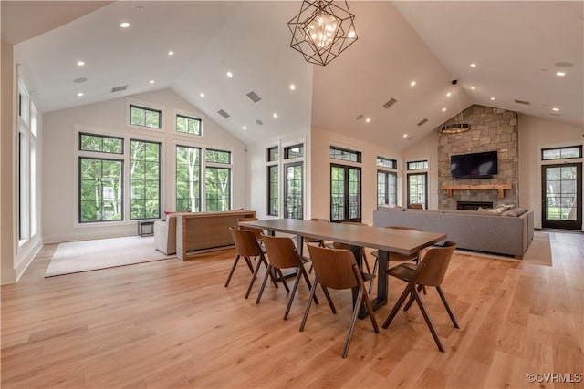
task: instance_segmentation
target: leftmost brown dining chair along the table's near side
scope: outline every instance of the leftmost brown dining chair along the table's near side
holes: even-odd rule
[[[227,282],[225,282],[225,288],[229,286],[229,282],[231,281],[231,277],[234,275],[235,267],[237,266],[237,262],[240,258],[244,258],[245,263],[247,263],[247,267],[252,272],[252,279],[249,281],[249,285],[247,286],[247,291],[245,292],[245,298],[249,297],[249,293],[252,290],[252,286],[254,285],[254,281],[257,278],[257,272],[259,271],[260,266],[262,263],[268,267],[268,263],[266,261],[266,257],[264,256],[264,251],[262,250],[259,242],[255,239],[255,233],[252,230],[240,230],[235,229],[234,227],[229,227],[231,231],[231,236],[235,243],[235,261],[231,267],[231,271],[229,271],[229,276],[227,276]],[[255,268],[252,265],[251,258],[257,258],[257,263],[255,264]],[[277,282],[275,277],[270,272],[270,276],[272,278],[272,282],[276,285]]]

